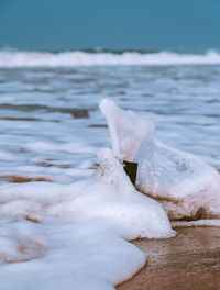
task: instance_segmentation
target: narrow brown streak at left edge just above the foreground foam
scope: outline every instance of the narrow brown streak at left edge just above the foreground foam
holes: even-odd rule
[[[1,175],[1,181],[8,181],[9,183],[26,183],[33,181],[47,181],[53,182],[54,180],[47,177],[28,177],[28,176],[19,176],[19,175]]]

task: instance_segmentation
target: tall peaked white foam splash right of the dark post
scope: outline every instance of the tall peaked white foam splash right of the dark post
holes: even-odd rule
[[[100,102],[114,156],[139,163],[136,187],[158,200],[172,220],[220,216],[220,175],[201,158],[162,144],[151,121]]]

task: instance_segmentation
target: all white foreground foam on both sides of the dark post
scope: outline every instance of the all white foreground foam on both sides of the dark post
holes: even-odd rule
[[[151,121],[113,101],[102,100],[100,109],[112,149],[98,152],[90,178],[0,187],[0,290],[113,289],[146,263],[127,241],[175,235],[166,212],[173,220],[219,216],[215,168],[165,146]],[[124,159],[139,163],[138,189],[154,199],[135,190]]]

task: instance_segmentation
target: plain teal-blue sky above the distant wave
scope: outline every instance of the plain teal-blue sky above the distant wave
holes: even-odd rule
[[[220,49],[219,0],[0,0],[0,48]]]

